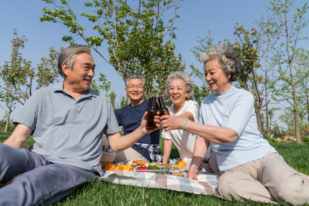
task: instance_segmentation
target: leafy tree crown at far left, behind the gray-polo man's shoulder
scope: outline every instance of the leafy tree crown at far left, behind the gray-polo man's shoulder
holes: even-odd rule
[[[32,68],[31,61],[23,59],[20,50],[24,48],[24,43],[28,40],[25,36],[18,36],[14,29],[15,39],[12,42],[11,61],[5,61],[5,65],[0,67],[0,75],[6,85],[6,91],[19,103],[24,104],[32,95],[33,82],[36,81],[35,89],[48,86],[54,83],[58,77],[57,58],[62,51],[49,48],[49,59],[41,58],[41,63],[37,69]]]

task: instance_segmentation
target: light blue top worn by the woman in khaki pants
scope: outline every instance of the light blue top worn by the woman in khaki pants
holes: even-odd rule
[[[246,91],[232,86],[225,93],[213,93],[201,103],[201,124],[233,129],[238,138],[227,144],[210,142],[217,156],[220,171],[252,162],[277,151],[258,131],[254,97]]]

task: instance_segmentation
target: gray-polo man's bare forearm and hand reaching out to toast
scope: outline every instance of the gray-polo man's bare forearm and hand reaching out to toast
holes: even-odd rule
[[[159,115],[159,112],[157,112]],[[130,134],[127,134],[125,136],[121,136],[120,132],[112,133],[112,134],[105,134],[108,143],[111,146],[112,150],[116,153],[119,153],[125,149],[128,149],[132,145],[134,145],[140,138],[142,138],[145,134],[149,134],[153,132],[153,130],[146,130],[146,117],[147,112],[145,112],[142,121],[141,126],[139,126],[136,130],[131,132]],[[156,130],[160,129],[160,116],[155,116],[155,123],[156,123]]]

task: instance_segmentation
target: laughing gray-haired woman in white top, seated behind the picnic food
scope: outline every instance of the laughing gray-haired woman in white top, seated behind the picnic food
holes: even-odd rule
[[[192,78],[186,72],[176,71],[168,75],[165,84],[165,93],[174,103],[168,108],[170,115],[180,116],[188,120],[198,122],[200,107],[197,102],[192,101],[193,86]],[[161,137],[164,138],[164,150],[162,163],[165,164],[171,153],[171,147],[174,143],[177,147],[180,158],[186,163],[185,170],[189,169],[193,149],[196,140],[196,134],[179,130],[163,131]],[[212,155],[210,149],[204,155],[200,166],[200,171],[210,173],[219,172],[215,154]],[[211,156],[211,157],[210,157]]]

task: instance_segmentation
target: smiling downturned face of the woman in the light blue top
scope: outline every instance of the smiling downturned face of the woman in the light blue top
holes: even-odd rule
[[[205,64],[205,81],[213,92],[220,95],[230,89],[232,86],[230,77],[231,73],[225,74],[222,71],[218,59],[213,59]]]

